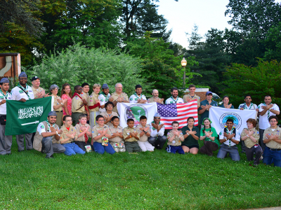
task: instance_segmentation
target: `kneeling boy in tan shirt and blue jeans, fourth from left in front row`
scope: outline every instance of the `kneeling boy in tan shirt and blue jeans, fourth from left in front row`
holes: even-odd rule
[[[105,125],[105,118],[101,115],[96,116],[96,125],[92,128],[91,144],[93,145],[93,150],[99,154],[107,152],[113,155],[115,150],[108,142],[111,137],[110,128]]]

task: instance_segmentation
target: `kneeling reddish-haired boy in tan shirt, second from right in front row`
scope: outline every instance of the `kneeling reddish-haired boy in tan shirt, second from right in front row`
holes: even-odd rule
[[[247,156],[247,160],[251,161],[254,159],[254,153],[256,153],[256,157],[254,159],[254,166],[259,165],[259,158],[261,158],[261,154],[263,153],[263,149],[259,146],[259,132],[256,130],[256,120],[249,118],[247,120],[247,127],[241,133],[241,140],[244,141],[245,144],[245,153]]]

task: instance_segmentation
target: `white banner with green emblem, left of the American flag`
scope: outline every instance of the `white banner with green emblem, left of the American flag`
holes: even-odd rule
[[[127,120],[132,118],[135,125],[140,124],[141,116],[148,118],[147,124],[153,121],[155,113],[157,113],[156,102],[148,104],[131,104],[131,103],[117,103],[117,110],[120,117],[120,126],[127,127]]]

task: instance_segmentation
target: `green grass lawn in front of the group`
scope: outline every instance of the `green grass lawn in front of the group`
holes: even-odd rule
[[[281,168],[207,155],[0,157],[1,209],[248,209],[280,206]],[[252,164],[252,162],[251,162]]]

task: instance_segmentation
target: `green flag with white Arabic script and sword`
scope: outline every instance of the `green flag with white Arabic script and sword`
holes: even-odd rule
[[[53,105],[52,98],[32,99],[26,102],[7,100],[5,135],[36,132],[38,124],[47,120]]]

